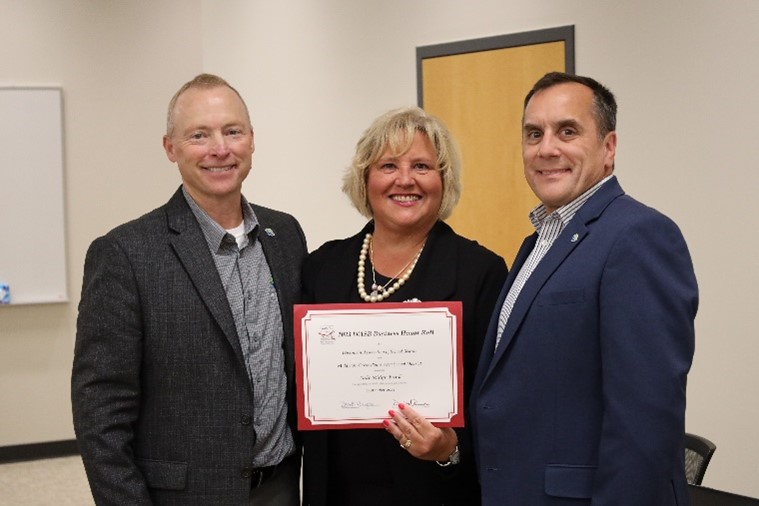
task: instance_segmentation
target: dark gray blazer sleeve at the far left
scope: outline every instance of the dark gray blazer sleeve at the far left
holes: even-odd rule
[[[142,315],[124,251],[108,237],[84,266],[71,377],[74,429],[98,505],[151,504],[131,449],[140,403]]]

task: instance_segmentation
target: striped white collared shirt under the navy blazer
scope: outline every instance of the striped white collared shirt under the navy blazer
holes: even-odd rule
[[[559,237],[559,234],[561,234],[566,228],[570,220],[574,218],[582,205],[585,204],[585,202],[587,202],[588,199],[601,188],[601,185],[610,178],[611,175],[606,176],[601,181],[585,190],[582,195],[574,199],[572,202],[561,206],[551,214],[547,213],[544,204],[540,204],[530,211],[530,221],[538,233],[538,240],[535,242],[535,246],[530,252],[530,256],[527,257],[524,265],[519,269],[519,273],[517,274],[514,283],[511,285],[511,288],[509,288],[509,293],[506,294],[503,306],[501,306],[501,313],[498,316],[498,333],[496,334],[495,340],[496,348],[498,348],[498,343],[501,342],[501,336],[503,335],[503,330],[506,328],[506,322],[508,322],[509,316],[511,316],[511,310],[514,308],[514,303],[516,303],[517,297],[519,297],[519,293],[530,278],[532,271],[535,270],[535,267],[538,266],[548,250],[551,249],[556,238]]]

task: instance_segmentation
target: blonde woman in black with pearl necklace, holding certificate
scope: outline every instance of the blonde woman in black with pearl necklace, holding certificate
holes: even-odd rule
[[[462,301],[466,405],[507,271],[501,257],[441,221],[459,200],[460,171],[458,150],[439,119],[416,107],[377,118],[359,140],[343,185],[370,221],[309,255],[302,282],[305,303]],[[416,415],[409,407],[402,412]],[[418,432],[409,428],[397,413],[387,430],[304,432],[303,504],[479,504],[467,429],[426,420]]]

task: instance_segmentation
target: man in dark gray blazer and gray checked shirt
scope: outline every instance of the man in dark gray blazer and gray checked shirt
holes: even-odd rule
[[[297,505],[292,305],[306,241],[249,204],[253,129],[201,74],[169,104],[182,186],[87,252],[74,427],[98,505]]]

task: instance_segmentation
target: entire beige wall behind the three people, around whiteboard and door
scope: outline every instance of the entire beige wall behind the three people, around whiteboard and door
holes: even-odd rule
[[[246,194],[295,214],[315,248],[361,225],[341,172],[371,119],[415,102],[416,46],[573,24],[577,72],[620,102],[622,185],[673,217],[694,257],[687,429],[718,445],[705,484],[759,496],[756,0],[0,0],[0,12],[0,85],[64,89],[71,296],[0,311],[0,446],[73,437],[84,253],[176,186],[160,136],[178,84],[216,72],[248,97]]]

